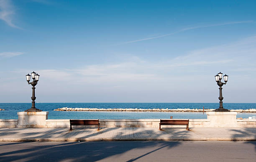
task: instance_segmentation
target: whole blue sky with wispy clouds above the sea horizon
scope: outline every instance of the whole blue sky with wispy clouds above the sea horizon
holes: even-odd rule
[[[256,102],[256,1],[0,0],[0,102]]]

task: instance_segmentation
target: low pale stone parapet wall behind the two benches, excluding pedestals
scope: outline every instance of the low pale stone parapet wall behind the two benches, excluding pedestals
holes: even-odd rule
[[[100,119],[100,127],[159,127],[160,119]],[[256,127],[256,120],[236,120],[237,127]],[[69,119],[49,119],[45,125],[23,125],[23,127],[69,127]],[[0,119],[0,127],[20,127],[17,119]],[[73,127],[73,126],[72,126]],[[96,126],[74,126],[96,127]],[[164,127],[186,127],[179,125],[165,125]],[[189,119],[189,127],[211,127],[209,119]]]

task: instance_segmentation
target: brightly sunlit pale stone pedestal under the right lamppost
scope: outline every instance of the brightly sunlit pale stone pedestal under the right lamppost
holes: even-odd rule
[[[237,127],[237,112],[206,112],[209,127]]]

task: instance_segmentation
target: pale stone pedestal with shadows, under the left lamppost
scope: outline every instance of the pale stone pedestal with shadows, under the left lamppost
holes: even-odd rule
[[[18,112],[17,127],[46,127],[49,112]]]

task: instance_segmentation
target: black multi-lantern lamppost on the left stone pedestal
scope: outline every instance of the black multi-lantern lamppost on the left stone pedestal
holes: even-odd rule
[[[30,81],[30,77],[32,75],[32,79],[33,79],[33,82],[29,82]],[[39,79],[39,76],[38,74],[36,74],[36,72],[31,72],[31,75],[26,75],[26,79],[28,81],[28,84],[31,84],[32,85],[32,97],[31,97],[31,100],[32,100],[32,106],[30,109],[28,110],[25,110],[26,112],[41,112],[42,110],[39,110],[39,109],[36,109],[35,107],[35,100],[36,100],[36,96],[35,96],[35,86],[37,85],[37,82],[38,82],[38,79]]]

